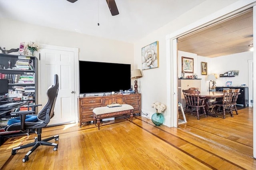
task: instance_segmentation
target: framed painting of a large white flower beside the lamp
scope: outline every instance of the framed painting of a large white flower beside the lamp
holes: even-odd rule
[[[158,41],[153,42],[141,49],[142,70],[159,67]]]

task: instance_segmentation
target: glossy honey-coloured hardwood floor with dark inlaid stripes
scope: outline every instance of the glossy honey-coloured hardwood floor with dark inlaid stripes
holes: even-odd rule
[[[44,128],[42,136],[60,134],[58,150],[39,146],[25,163],[29,148],[13,147],[34,141],[35,134],[9,138],[0,146],[1,170],[235,170],[256,169],[252,157],[252,108],[200,120],[186,115],[179,128],[154,126],[150,119],[116,119],[79,128],[78,124]],[[182,118],[182,117],[180,117]],[[111,123],[111,124],[110,124]],[[52,140],[52,142],[56,142]]]

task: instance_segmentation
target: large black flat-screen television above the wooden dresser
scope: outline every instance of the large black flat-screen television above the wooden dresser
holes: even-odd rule
[[[80,94],[108,93],[131,88],[131,65],[79,61]]]

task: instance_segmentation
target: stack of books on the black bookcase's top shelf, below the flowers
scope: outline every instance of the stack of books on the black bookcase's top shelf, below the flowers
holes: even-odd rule
[[[18,56],[15,67],[12,67],[12,69],[34,70],[33,60],[30,59],[30,56]]]

